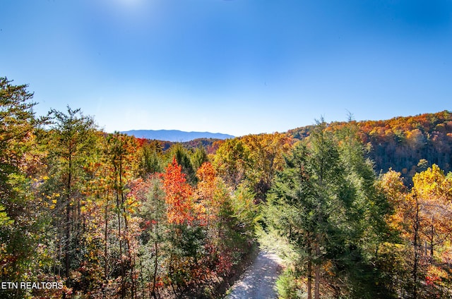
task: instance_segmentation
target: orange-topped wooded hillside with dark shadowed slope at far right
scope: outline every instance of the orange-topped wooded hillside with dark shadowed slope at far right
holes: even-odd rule
[[[446,172],[452,171],[452,114],[396,117],[387,121],[352,121],[359,140],[367,146],[367,157],[375,169],[393,169],[402,173],[405,183],[412,183],[417,171],[436,164]],[[328,130],[341,130],[345,122],[328,124]],[[296,128],[287,133],[301,140],[309,136],[312,126]]]

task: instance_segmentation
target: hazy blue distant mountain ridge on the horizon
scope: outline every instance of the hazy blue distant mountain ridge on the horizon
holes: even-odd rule
[[[198,138],[228,139],[232,135],[210,132],[185,132],[182,130],[128,130],[121,133],[151,140],[187,142]]]

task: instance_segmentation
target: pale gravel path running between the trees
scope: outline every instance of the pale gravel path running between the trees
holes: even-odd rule
[[[273,253],[261,251],[256,260],[234,283],[227,299],[278,298],[275,282],[281,271],[281,261]]]

